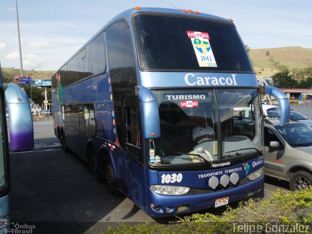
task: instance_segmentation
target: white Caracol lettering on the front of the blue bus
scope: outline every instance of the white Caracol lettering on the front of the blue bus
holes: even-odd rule
[[[235,86],[236,74],[232,74],[231,77],[195,77],[193,73],[188,73],[184,76],[184,81],[187,85],[224,85]]]

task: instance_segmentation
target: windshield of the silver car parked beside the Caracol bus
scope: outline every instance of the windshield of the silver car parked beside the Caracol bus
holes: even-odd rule
[[[274,127],[289,144],[312,144],[312,128],[304,123],[291,123],[284,127]]]

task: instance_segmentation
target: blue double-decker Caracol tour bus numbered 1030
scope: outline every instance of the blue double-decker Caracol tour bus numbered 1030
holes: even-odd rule
[[[52,75],[63,150],[154,217],[263,195],[260,95],[281,125],[290,108],[258,86],[232,21],[140,7],[109,21]]]

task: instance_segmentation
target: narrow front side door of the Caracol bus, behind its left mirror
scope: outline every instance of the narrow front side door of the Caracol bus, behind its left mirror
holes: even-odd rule
[[[130,199],[141,209],[145,209],[145,173],[142,142],[140,136],[138,99],[127,96],[124,105],[125,114],[125,152],[127,183]]]

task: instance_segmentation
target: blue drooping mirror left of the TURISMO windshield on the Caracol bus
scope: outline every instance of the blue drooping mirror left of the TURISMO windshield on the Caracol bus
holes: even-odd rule
[[[145,139],[160,137],[160,119],[155,95],[141,85],[136,87],[136,95],[141,103],[143,137]]]

